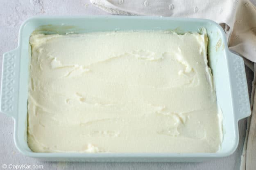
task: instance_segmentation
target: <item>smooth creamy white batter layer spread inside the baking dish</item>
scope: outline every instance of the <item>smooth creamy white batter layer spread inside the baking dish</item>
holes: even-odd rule
[[[32,35],[34,152],[217,152],[206,31]]]

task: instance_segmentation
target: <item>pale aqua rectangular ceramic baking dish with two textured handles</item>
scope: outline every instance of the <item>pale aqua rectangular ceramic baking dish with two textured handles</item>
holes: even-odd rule
[[[85,33],[119,30],[174,30],[197,32],[206,28],[208,60],[213,72],[217,104],[223,113],[224,139],[217,153],[35,153],[27,145],[29,36],[38,33]],[[26,156],[46,161],[179,161],[196,162],[231,155],[238,146],[238,120],[250,115],[243,59],[229,51],[217,23],[211,20],[140,16],[36,17],[20,27],[17,49],[3,56],[1,112],[14,119],[14,141]],[[213,129],[214,130],[214,129]],[[65,140],[65,139],[60,139]]]

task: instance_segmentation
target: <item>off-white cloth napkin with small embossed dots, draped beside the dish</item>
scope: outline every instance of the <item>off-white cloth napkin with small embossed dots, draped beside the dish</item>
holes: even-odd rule
[[[229,49],[248,59],[249,61],[245,60],[245,64],[251,70],[255,70],[255,64],[252,62],[256,62],[256,7],[249,0],[91,0],[91,3],[116,15],[172,16],[214,20],[224,29]],[[256,72],[254,71],[251,94],[252,115],[247,121],[241,170],[253,170],[256,167],[255,86]]]

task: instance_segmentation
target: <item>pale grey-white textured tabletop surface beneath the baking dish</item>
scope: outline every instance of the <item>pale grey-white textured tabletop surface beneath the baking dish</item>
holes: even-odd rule
[[[31,16],[36,15],[108,15],[90,4],[89,0],[1,0],[0,2],[0,66],[2,54],[15,49],[18,45],[18,30],[20,24]],[[2,70],[2,68],[0,68]],[[247,79],[251,87],[252,74],[247,69]],[[251,91],[251,88],[249,88]],[[240,143],[236,152],[230,157],[215,159],[203,163],[51,163],[40,162],[36,159],[21,155],[14,145],[13,120],[0,114],[0,169],[3,164],[13,165],[43,165],[44,170],[61,169],[116,169],[116,170],[238,170],[240,156],[245,137],[245,119],[239,122]],[[7,168],[8,169],[8,168]]]

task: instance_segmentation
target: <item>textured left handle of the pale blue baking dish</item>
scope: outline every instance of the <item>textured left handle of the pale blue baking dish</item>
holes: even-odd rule
[[[4,53],[2,59],[2,82],[0,110],[16,118],[18,113],[19,49]]]

